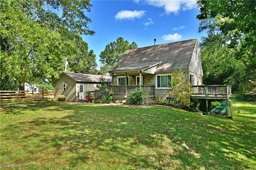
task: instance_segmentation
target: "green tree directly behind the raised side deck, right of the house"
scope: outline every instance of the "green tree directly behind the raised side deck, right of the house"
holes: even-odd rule
[[[222,42],[220,35],[204,37],[200,44],[201,61],[204,70],[204,84],[229,84],[232,90],[240,90],[241,83],[246,81],[242,61],[234,58],[235,51]]]

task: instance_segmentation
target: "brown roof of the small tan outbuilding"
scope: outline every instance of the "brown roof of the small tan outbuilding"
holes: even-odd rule
[[[95,75],[95,74],[67,73],[67,72],[63,72],[62,74],[60,74],[60,77],[62,75],[66,75],[76,82],[100,82],[100,77],[102,76],[102,75]],[[103,76],[103,78],[105,79],[106,82],[112,82],[111,77]],[[56,78],[55,80],[57,79],[58,78]]]

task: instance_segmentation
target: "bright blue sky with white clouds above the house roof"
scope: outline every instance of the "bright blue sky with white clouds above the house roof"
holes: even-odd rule
[[[138,47],[171,43],[187,39],[198,39],[199,10],[196,0],[92,0],[91,12],[86,14],[92,23],[89,29],[95,35],[83,35],[96,55],[98,68],[99,55],[107,44],[118,37],[136,42]]]

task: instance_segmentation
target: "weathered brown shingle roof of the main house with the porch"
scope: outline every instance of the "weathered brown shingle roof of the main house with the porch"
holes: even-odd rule
[[[196,43],[197,39],[191,39],[127,50],[110,73],[142,70],[156,63],[156,72],[188,70]]]

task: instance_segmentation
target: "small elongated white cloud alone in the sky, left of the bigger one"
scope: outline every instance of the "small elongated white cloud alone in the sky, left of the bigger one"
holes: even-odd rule
[[[143,11],[142,10],[140,10],[140,11],[137,11],[137,10],[135,10],[135,11],[129,11],[129,10],[119,11],[116,14],[115,18],[116,18],[116,20],[122,20],[122,19],[134,20],[134,18],[142,18],[142,16],[144,16],[145,12],[146,11],[144,11],[144,10]]]

